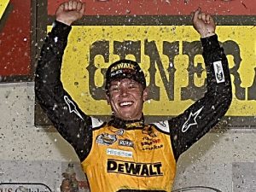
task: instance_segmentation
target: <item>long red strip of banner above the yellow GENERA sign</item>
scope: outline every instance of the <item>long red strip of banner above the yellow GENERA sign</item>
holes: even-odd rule
[[[212,15],[256,15],[255,0],[82,0],[86,15],[190,15],[201,7]],[[48,15],[55,15],[65,0],[48,0]]]

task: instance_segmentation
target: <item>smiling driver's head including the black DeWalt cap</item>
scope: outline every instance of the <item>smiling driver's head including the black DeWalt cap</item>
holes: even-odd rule
[[[108,67],[106,90],[113,116],[125,120],[142,118],[148,90],[144,73],[136,61],[116,61]]]

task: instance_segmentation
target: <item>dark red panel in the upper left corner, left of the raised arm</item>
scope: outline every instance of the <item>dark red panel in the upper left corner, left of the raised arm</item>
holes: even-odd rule
[[[31,73],[31,1],[10,0],[0,20],[0,75]]]

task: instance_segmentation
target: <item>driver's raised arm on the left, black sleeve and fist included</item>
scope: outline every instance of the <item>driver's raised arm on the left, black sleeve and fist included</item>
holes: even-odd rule
[[[67,46],[67,37],[74,20],[84,13],[84,4],[62,3],[56,10],[56,20],[45,39],[38,60],[35,94],[41,107],[56,129],[84,160],[91,146],[91,119],[73,102],[61,84],[61,62]]]

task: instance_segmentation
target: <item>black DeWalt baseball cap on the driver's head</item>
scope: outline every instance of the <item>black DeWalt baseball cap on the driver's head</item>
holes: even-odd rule
[[[106,90],[108,90],[111,81],[118,79],[133,79],[137,81],[137,83],[142,84],[143,89],[146,88],[145,75],[137,61],[119,60],[113,62],[113,64],[108,67],[105,78]]]

